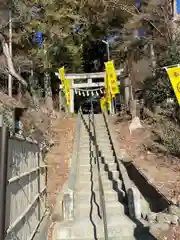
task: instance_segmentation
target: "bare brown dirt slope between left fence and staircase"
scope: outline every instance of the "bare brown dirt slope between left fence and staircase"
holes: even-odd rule
[[[72,156],[74,143],[75,118],[60,118],[52,123],[51,136],[55,146],[47,155],[48,163],[48,205],[52,212],[56,204],[56,196],[67,180],[69,172],[69,160]],[[49,238],[52,239],[51,223]]]

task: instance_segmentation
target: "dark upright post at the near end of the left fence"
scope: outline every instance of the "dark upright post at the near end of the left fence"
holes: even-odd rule
[[[4,239],[8,171],[8,127],[0,127],[0,239]]]

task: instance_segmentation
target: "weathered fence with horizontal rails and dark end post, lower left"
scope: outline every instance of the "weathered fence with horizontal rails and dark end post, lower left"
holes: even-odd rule
[[[47,213],[47,166],[37,142],[0,128],[0,239],[31,240]]]

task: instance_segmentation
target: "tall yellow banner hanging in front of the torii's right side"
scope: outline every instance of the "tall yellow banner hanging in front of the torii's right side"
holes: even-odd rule
[[[106,69],[110,92],[111,92],[112,96],[114,97],[117,93],[119,93],[119,88],[118,88],[118,84],[117,84],[116,71],[114,68],[113,61],[106,62],[105,69]]]

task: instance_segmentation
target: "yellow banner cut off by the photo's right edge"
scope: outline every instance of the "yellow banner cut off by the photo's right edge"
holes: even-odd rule
[[[180,105],[180,67],[167,68],[166,71]]]

